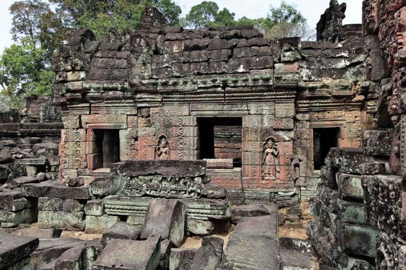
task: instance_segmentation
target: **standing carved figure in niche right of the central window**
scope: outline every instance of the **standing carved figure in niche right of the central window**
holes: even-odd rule
[[[262,150],[262,177],[276,179],[280,173],[279,149],[274,138],[267,138],[263,144]]]

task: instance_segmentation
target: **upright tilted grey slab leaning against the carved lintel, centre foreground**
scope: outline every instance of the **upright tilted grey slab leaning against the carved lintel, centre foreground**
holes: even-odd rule
[[[152,199],[148,205],[147,215],[140,239],[147,239],[151,234],[159,234],[180,247],[183,242],[186,210],[178,200]]]

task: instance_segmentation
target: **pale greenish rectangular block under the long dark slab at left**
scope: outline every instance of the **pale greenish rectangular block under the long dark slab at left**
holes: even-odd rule
[[[40,228],[60,228],[67,230],[84,230],[85,215],[83,212],[38,212],[38,226]]]

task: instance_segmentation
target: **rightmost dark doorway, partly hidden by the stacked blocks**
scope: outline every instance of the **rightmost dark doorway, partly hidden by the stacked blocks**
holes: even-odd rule
[[[340,128],[313,129],[314,169],[320,170],[331,148],[338,146]]]

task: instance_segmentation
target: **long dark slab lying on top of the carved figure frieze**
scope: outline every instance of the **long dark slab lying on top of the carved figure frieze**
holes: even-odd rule
[[[182,160],[139,160],[126,161],[112,165],[112,175],[146,176],[170,175],[183,177],[205,176],[206,161]]]

